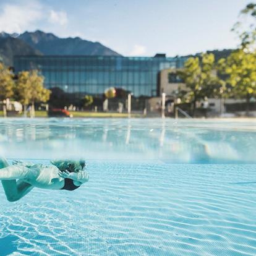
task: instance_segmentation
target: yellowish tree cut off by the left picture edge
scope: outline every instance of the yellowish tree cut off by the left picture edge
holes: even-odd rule
[[[14,80],[11,70],[0,63],[0,100],[4,101],[14,95]],[[4,105],[6,116],[6,105]]]

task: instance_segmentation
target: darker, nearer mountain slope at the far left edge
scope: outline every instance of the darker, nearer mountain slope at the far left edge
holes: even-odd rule
[[[14,55],[42,55],[42,53],[18,38],[0,33],[0,56],[6,66],[13,66]]]

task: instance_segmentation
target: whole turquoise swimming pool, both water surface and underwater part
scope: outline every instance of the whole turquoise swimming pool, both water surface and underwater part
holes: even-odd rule
[[[87,160],[79,189],[0,188],[0,255],[255,255],[256,121],[1,119],[0,155]]]

